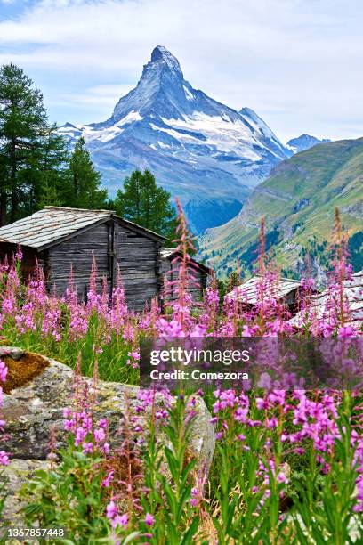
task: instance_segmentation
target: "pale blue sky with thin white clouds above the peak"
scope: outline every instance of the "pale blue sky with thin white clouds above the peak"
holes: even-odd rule
[[[363,136],[361,0],[0,0],[0,63],[44,93],[52,121],[109,117],[155,45],[214,99],[282,140]]]

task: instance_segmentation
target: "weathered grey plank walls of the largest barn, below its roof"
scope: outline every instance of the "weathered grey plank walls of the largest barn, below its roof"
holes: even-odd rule
[[[118,265],[127,305],[141,311],[160,289],[159,244],[117,221],[99,224],[49,249],[48,284],[55,284],[62,295],[72,263],[78,296],[86,298],[94,255],[100,283],[106,277],[110,289],[116,282]]]

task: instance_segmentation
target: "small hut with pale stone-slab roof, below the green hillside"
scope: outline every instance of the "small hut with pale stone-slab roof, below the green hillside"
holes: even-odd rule
[[[257,304],[260,297],[259,289],[261,281],[261,276],[256,274],[230,291],[230,293],[225,297],[237,299],[241,304],[253,307]],[[277,301],[281,302],[283,305],[286,305],[290,312],[296,313],[296,306],[299,302],[301,288],[301,281],[280,277],[277,285],[271,287],[271,289],[269,288],[269,291],[272,292],[269,292],[269,294],[266,295],[269,297],[274,297]]]

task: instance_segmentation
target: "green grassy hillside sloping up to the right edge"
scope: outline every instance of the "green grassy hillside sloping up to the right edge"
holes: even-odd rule
[[[201,255],[222,275],[238,266],[250,267],[264,216],[267,248],[273,248],[285,271],[303,267],[307,250],[319,268],[319,256],[332,240],[335,207],[358,266],[363,251],[363,138],[322,143],[280,163],[254,189],[238,216],[206,231],[200,238]]]

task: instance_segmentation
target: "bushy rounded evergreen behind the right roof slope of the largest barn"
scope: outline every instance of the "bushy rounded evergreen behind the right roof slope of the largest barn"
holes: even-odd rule
[[[157,187],[149,170],[135,170],[125,178],[124,189],[117,191],[113,207],[119,216],[173,239],[176,216],[170,193]]]

